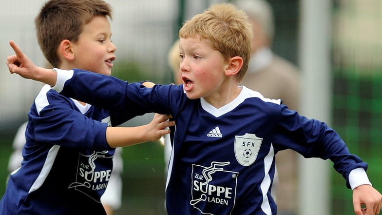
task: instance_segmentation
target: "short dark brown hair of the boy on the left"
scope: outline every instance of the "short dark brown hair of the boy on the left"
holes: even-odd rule
[[[83,26],[96,16],[112,19],[112,8],[104,0],[49,0],[35,19],[38,44],[54,67],[60,62],[57,48],[62,40],[78,40]]]

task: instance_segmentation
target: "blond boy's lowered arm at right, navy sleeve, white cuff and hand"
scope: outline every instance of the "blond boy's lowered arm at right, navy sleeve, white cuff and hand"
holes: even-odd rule
[[[276,150],[291,148],[304,157],[320,157],[333,161],[334,168],[346,179],[353,190],[353,206],[356,215],[379,214],[382,195],[375,190],[366,175],[367,164],[350,154],[344,140],[326,123],[299,116],[282,106],[279,132],[273,138]],[[296,117],[299,118],[296,120]],[[287,135],[285,135],[287,134]],[[363,213],[361,205],[367,207]]]

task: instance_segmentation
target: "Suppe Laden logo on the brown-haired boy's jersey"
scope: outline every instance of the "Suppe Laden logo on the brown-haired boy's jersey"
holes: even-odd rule
[[[69,189],[76,189],[95,201],[100,202],[100,196],[105,192],[111,176],[113,155],[109,151],[96,152],[92,155],[78,154],[76,181],[69,185]],[[102,163],[102,165],[97,165]]]

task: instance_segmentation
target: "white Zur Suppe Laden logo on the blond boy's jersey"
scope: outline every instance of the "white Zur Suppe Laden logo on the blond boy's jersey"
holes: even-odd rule
[[[208,167],[192,164],[190,204],[202,214],[220,215],[233,209],[238,173],[224,170],[227,165],[216,161]]]

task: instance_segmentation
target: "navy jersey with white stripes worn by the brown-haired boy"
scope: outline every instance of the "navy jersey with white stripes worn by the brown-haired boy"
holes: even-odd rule
[[[0,215],[106,214],[100,196],[115,153],[106,128],[131,117],[81,105],[49,85],[35,98],[28,117],[23,161],[9,177]]]

